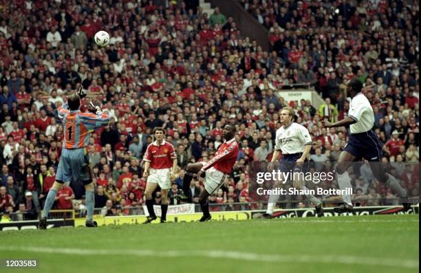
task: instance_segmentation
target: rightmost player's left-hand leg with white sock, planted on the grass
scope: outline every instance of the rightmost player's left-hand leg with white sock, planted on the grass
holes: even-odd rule
[[[352,155],[347,151],[342,151],[339,155],[338,163],[335,166],[336,177],[338,178],[338,186],[342,190],[342,193],[346,193],[345,190],[352,188],[351,177],[347,169],[351,166],[352,162],[356,160],[356,156]],[[335,212],[352,212],[354,207],[352,206],[351,196],[349,194],[342,194],[343,204],[334,208]]]

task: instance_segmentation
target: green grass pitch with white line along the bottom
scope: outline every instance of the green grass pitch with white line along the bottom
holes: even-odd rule
[[[418,215],[6,231],[0,258],[40,265],[2,272],[418,272]]]

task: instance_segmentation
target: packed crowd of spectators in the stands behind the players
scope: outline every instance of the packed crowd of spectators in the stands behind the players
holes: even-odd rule
[[[215,9],[208,17],[193,2],[0,1],[0,211],[34,219],[42,209],[65,133],[56,109],[78,85],[89,94],[82,111],[93,100],[112,117],[87,147],[102,215],[141,210],[140,164],[154,127],[164,127],[177,150],[171,204],[183,168],[213,157],[228,123],[237,126],[241,150],[210,203],[237,209],[230,204],[257,201],[248,167],[271,158],[285,105],[314,139],[314,168],[332,166],[348,131],[326,130],[321,120],[347,115],[342,91],[354,77],[373,104],[383,163],[418,196],[418,164],[409,164],[418,162],[419,147],[418,3],[241,3],[268,28],[270,52],[242,36],[230,14]],[[93,42],[98,30],[109,32],[109,46]],[[292,83],[314,86],[325,103],[315,109],[310,100],[285,101],[279,90]],[[359,175],[353,184],[357,199],[393,197]],[[193,180],[191,190],[197,201],[202,181]],[[82,195],[64,185],[56,208],[83,208]]]

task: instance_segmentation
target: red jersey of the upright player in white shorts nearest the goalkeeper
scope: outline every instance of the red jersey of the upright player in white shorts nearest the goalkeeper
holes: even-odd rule
[[[144,153],[143,160],[151,162],[151,168],[172,168],[173,159],[177,158],[173,144],[165,140],[158,146],[158,142],[154,141],[149,144],[147,151]]]

